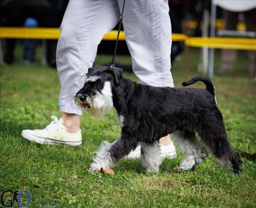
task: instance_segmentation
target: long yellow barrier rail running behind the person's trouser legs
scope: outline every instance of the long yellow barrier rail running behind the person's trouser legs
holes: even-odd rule
[[[25,28],[25,27],[0,27],[0,38],[17,39],[59,39],[59,28]],[[117,31],[106,33],[102,40],[115,41]],[[125,34],[121,31],[119,40],[125,40]],[[188,37],[184,34],[172,34],[173,41],[184,41],[190,47],[209,47],[223,49],[256,50],[255,38],[231,38],[231,37]]]

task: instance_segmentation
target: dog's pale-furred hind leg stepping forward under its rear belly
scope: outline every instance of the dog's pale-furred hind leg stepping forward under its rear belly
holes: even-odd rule
[[[203,144],[195,137],[195,133],[189,130],[176,130],[172,133],[173,143],[181,152],[186,154],[182,160],[179,169],[188,171],[197,164],[204,161],[207,152]]]

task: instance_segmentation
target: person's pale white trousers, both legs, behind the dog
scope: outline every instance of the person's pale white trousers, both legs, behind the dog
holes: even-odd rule
[[[57,47],[62,112],[82,115],[74,96],[81,87],[82,75],[93,66],[102,37],[119,22],[122,6],[123,0],[69,1]],[[126,0],[123,16],[126,43],[140,83],[173,87],[168,1]],[[114,48],[111,50],[114,52]]]

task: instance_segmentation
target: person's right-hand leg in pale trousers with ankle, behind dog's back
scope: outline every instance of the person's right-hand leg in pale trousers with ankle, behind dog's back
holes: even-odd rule
[[[121,9],[123,1],[118,1],[118,4]],[[134,73],[140,83],[174,87],[168,1],[126,1],[123,15],[126,43],[132,55]],[[170,136],[161,138],[160,142],[170,145]]]

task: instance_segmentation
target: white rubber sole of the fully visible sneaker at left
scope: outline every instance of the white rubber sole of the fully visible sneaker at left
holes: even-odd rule
[[[34,135],[29,134],[26,130],[22,131],[21,134],[25,139],[35,142],[38,144],[64,144],[69,146],[80,146],[82,144],[82,141],[80,142],[66,142],[66,141],[60,141],[60,140],[52,140],[52,139],[45,139],[41,137],[36,137]]]

